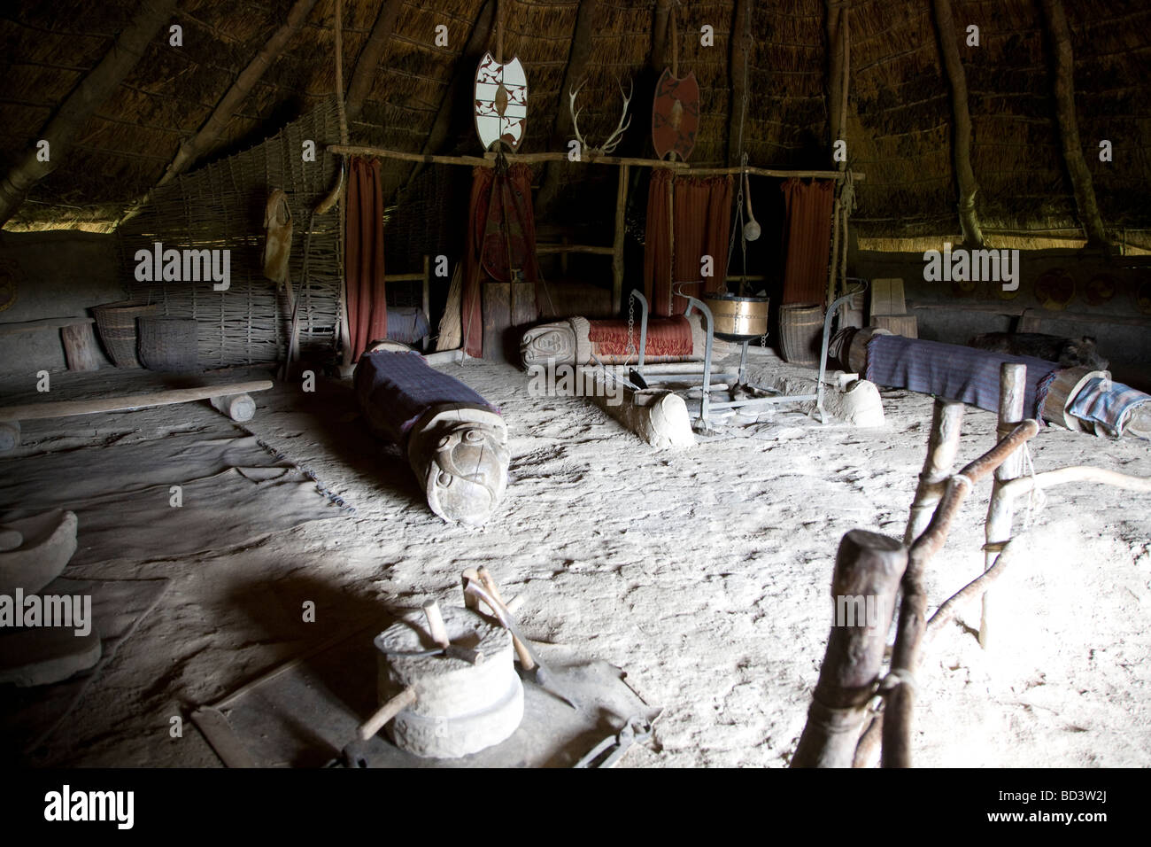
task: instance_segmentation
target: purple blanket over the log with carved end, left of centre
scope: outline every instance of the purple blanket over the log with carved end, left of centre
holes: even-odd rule
[[[420,415],[434,406],[472,406],[500,414],[455,377],[432,368],[414,350],[365,353],[356,364],[356,396],[373,430],[403,443]]]

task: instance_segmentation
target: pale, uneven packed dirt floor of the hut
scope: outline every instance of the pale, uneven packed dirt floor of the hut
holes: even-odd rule
[[[877,429],[821,425],[784,407],[672,452],[585,399],[529,396],[527,376],[510,365],[443,369],[500,406],[510,429],[511,482],[482,531],[430,513],[398,451],[367,433],[350,381],[321,377],[311,393],[277,383],[256,395],[259,410],[244,426],[355,515],[325,505],[333,520],[190,559],[157,550],[145,561],[67,569],[171,584],[25,763],[219,765],[186,720],[196,705],[381,608],[458,604],[460,572],[486,565],[505,596],[524,596],[532,638],[613,663],[663,708],[654,742],[630,751],[625,766],[786,766],[826,644],[837,545],[853,528],[902,536],[932,399],[883,391],[886,425]],[[756,369],[764,380],[801,370],[773,357]],[[53,378],[62,392],[79,391],[82,377]],[[145,375],[101,371],[97,381],[110,391],[132,379]],[[994,443],[994,428],[993,414],[968,408],[960,463]],[[86,449],[197,430],[242,434],[206,402],[185,403],[31,422],[20,454],[75,451],[83,475]],[[1137,439],[1047,426],[1030,452],[1037,471],[1095,464],[1151,476],[1151,444]],[[18,472],[18,461],[3,472]],[[931,562],[932,610],[982,572],[989,491],[985,482],[971,494]],[[976,641],[976,602],[927,651],[915,764],[1151,765],[1151,496],[1064,486],[1022,513],[1030,554],[997,585],[1004,617],[992,649]],[[315,622],[302,619],[308,600]],[[175,716],[184,718],[180,738]]]

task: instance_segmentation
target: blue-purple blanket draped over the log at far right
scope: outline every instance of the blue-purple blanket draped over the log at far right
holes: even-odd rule
[[[1023,414],[1042,425],[1039,410],[1059,370],[1055,362],[902,335],[876,335],[867,346],[867,379],[998,411],[999,365],[1004,362],[1027,365]]]

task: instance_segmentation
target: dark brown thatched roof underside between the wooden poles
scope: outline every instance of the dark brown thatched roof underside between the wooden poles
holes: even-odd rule
[[[493,0],[407,0],[402,3],[361,112],[355,143],[425,151],[442,104],[449,131],[427,152],[478,153],[466,46]],[[528,71],[531,100],[524,151],[556,149],[552,127],[577,21],[577,0],[504,0],[505,52]],[[1061,158],[1052,103],[1051,50],[1041,0],[951,0],[956,27],[981,30],[978,47],[961,45],[973,120],[977,205],[985,227],[1077,230],[1072,186]],[[35,144],[41,127],[108,51],[142,0],[23,0],[0,17],[5,47],[0,96],[0,164]],[[9,228],[109,227],[157,184],[181,142],[196,134],[241,70],[280,28],[292,0],[183,0],[173,23],[183,46],[161,31],[142,61],[78,133],[66,159],[35,186]],[[343,55],[348,84],[382,0],[344,0]],[[1076,109],[1088,167],[1105,224],[1151,227],[1151,6],[1145,0],[1064,0],[1073,32]],[[749,160],[760,166],[830,166],[824,0],[752,2],[749,111],[744,128]],[[849,156],[866,174],[855,220],[874,236],[958,233],[952,169],[952,112],[931,2],[852,0]],[[655,67],[655,0],[595,5],[580,127],[603,137],[618,118],[618,78],[648,89],[633,100],[625,149],[645,154]],[[305,24],[244,98],[222,137],[199,164],[262,139],[328,97],[335,86],[335,0],[319,0]],[[731,0],[680,3],[680,73],[700,82],[701,131],[693,165],[726,165],[733,108]],[[448,46],[434,43],[436,27]],[[715,46],[700,44],[700,28]],[[473,44],[487,45],[487,32]],[[737,66],[737,71],[741,68]],[[645,97],[647,99],[645,99]],[[1097,144],[1114,145],[1100,162]],[[735,142],[732,142],[735,144]],[[649,150],[649,146],[648,146]],[[624,152],[622,149],[620,152]],[[388,190],[412,166],[389,162]]]

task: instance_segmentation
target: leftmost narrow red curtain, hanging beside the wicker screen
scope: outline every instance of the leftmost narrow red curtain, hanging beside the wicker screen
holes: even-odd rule
[[[380,160],[352,157],[344,228],[344,282],[352,361],[373,341],[388,338],[383,285],[383,192]]]

